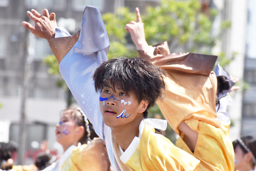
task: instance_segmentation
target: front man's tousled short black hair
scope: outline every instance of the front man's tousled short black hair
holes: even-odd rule
[[[127,95],[134,94],[139,103],[146,100],[149,109],[158,98],[162,98],[164,77],[165,72],[161,68],[144,58],[120,57],[104,61],[95,70],[93,80],[97,92],[101,92],[103,84],[108,82],[113,91],[117,85]],[[147,118],[147,109],[143,113],[144,118]]]

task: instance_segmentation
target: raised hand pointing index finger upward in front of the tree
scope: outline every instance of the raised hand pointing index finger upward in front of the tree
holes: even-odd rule
[[[125,30],[131,33],[132,41],[136,45],[137,50],[146,51],[148,44],[145,39],[144,26],[140,18],[139,8],[136,8],[137,21],[130,21],[125,26]]]

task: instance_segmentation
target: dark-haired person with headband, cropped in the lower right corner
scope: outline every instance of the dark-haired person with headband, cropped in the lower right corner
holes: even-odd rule
[[[251,171],[256,166],[256,137],[244,136],[233,141],[235,171]]]

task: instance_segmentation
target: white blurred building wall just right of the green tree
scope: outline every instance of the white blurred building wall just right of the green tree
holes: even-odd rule
[[[247,0],[209,0],[214,3],[219,14],[216,17],[217,27],[215,31],[221,33],[221,40],[217,42],[214,48],[215,54],[224,52],[226,57],[232,59],[231,63],[225,66],[227,72],[234,77],[244,81],[244,72],[246,72],[246,27],[248,4]],[[221,22],[230,21],[231,27],[225,31],[221,30]],[[216,24],[216,23],[215,23]],[[216,53],[217,52],[217,53]],[[235,140],[241,135],[244,129],[244,99],[242,84],[238,83],[241,88],[232,92],[233,105],[228,107],[228,114],[231,119],[230,136]],[[244,133],[244,132],[243,132]]]

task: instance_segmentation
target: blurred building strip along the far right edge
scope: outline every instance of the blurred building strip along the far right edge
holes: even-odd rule
[[[247,0],[242,135],[256,136],[256,0]]]

